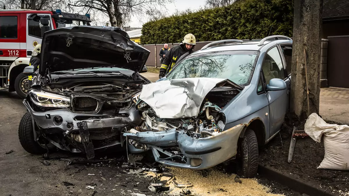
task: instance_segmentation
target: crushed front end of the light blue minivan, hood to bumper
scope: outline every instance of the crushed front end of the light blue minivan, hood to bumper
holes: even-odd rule
[[[236,155],[245,125],[224,129],[225,116],[220,111],[240,92],[238,88],[211,78],[157,83],[145,85],[136,103],[142,125],[122,133],[129,154],[151,151],[158,163],[193,170],[213,167]],[[153,95],[148,88],[154,89]]]

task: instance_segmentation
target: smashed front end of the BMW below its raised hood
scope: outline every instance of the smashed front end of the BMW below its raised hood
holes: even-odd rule
[[[95,149],[120,144],[125,127],[142,124],[135,103],[144,81],[80,80],[35,86],[23,103],[32,117],[35,140],[43,137],[90,159]]]

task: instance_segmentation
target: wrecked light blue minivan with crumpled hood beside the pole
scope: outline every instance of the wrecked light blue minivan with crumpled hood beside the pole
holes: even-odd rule
[[[290,38],[270,36],[183,55],[143,86],[136,103],[143,123],[122,133],[121,144],[131,159],[151,152],[158,163],[192,170],[236,162],[241,175],[255,177],[258,147],[288,111],[291,54]]]

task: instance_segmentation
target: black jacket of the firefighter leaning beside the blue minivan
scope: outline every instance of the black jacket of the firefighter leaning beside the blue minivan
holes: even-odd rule
[[[168,73],[176,64],[177,59],[183,54],[189,52],[192,53],[194,46],[190,50],[185,49],[185,44],[180,44],[179,46],[173,46],[168,53],[166,53],[164,61],[162,62],[160,72]]]

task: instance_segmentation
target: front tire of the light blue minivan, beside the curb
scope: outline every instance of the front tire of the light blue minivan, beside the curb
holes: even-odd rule
[[[244,178],[254,178],[258,169],[258,142],[254,131],[247,128],[240,144],[239,174]]]

